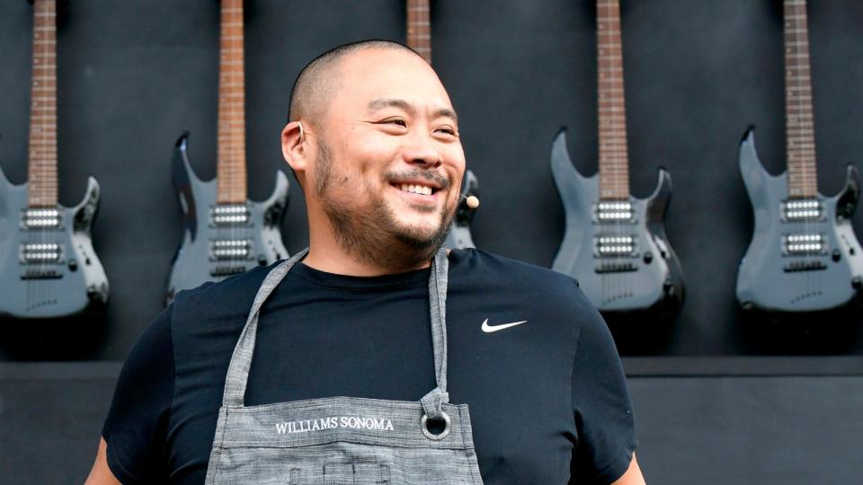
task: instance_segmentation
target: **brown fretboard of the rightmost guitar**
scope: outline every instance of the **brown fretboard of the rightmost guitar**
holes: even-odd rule
[[[805,0],[785,0],[784,30],[788,195],[814,198],[818,178]]]

